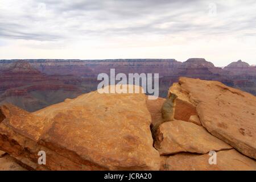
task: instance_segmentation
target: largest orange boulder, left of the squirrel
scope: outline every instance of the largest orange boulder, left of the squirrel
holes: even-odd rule
[[[2,106],[0,146],[28,163],[45,151],[46,169],[158,170],[144,94],[97,91],[28,113]],[[36,168],[36,167],[34,167]],[[38,169],[38,168],[36,168]]]

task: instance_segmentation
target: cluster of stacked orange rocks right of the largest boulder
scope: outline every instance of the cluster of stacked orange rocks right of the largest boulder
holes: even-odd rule
[[[256,154],[254,96],[217,81],[185,77],[169,92],[183,102],[175,108],[181,109],[177,117],[183,121],[159,126],[154,146],[161,155],[160,170],[256,170],[251,159]],[[147,105],[152,122],[160,121],[153,117],[161,107],[159,101]],[[217,164],[210,164],[208,152],[214,151]]]

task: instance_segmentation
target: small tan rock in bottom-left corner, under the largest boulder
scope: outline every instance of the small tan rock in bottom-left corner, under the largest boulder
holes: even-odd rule
[[[26,169],[15,163],[9,155],[6,155],[0,158],[0,171],[26,171]]]

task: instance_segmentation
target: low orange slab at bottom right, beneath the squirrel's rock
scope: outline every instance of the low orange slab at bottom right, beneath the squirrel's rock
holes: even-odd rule
[[[170,171],[255,171],[256,162],[236,150],[218,151],[217,163],[209,164],[209,154],[180,153],[166,158],[162,168]]]

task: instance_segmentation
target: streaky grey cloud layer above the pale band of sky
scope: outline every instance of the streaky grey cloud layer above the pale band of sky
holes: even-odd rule
[[[255,32],[255,15],[252,17],[245,10],[247,6],[256,7],[255,1],[236,1],[237,10],[226,1],[25,2],[25,6],[6,7],[0,11],[1,37],[55,41],[101,35],[176,35],[185,32],[198,36],[241,36]],[[212,2],[217,6],[217,18],[208,16],[208,5]]]

